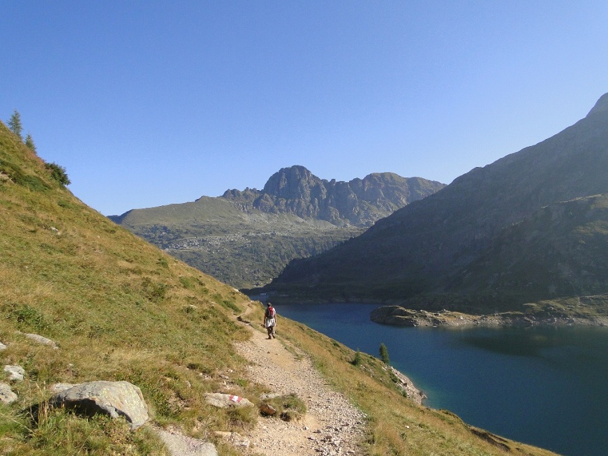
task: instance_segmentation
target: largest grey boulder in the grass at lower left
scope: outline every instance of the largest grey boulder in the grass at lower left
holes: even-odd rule
[[[112,418],[124,416],[131,429],[137,429],[149,420],[142,391],[128,381],[80,383],[54,395],[50,403],[89,416],[96,413],[104,413]]]

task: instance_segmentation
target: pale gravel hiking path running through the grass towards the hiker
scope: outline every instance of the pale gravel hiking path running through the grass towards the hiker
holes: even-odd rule
[[[279,337],[279,336],[277,336]],[[250,451],[267,456],[362,455],[357,442],[364,433],[365,416],[343,395],[330,390],[305,355],[286,350],[280,339],[265,333],[235,346],[251,362],[252,381],[281,395],[295,393],[306,403],[307,413],[297,422],[260,418],[251,434]]]

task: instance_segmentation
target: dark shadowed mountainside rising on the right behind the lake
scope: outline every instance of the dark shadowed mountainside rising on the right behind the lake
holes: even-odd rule
[[[331,251],[292,261],[267,288],[291,300],[468,313],[570,300],[575,312],[606,315],[607,170],[608,94],[552,138],[475,168]]]

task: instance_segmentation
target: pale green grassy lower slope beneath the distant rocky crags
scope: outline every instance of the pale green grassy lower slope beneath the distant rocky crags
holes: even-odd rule
[[[364,230],[304,220],[295,214],[242,210],[225,198],[209,197],[133,209],[110,219],[237,288],[262,286],[279,275],[292,258],[321,253]]]

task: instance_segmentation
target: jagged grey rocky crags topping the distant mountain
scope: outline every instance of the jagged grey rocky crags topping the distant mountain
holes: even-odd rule
[[[227,190],[222,198],[243,209],[294,214],[338,226],[368,227],[444,186],[440,182],[401,177],[392,172],[377,172],[350,182],[327,181],[304,166],[291,166],[275,172],[262,190]]]

